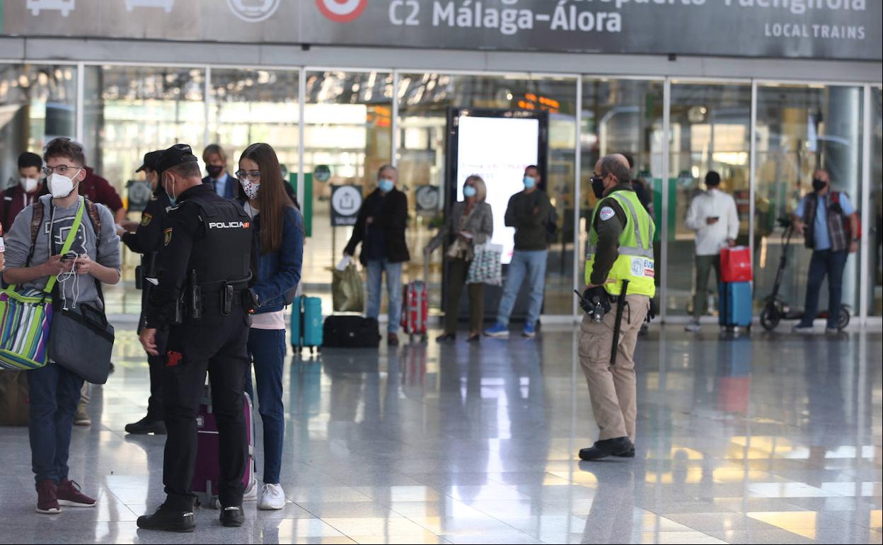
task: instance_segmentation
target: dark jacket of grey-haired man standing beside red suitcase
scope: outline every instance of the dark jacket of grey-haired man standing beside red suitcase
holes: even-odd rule
[[[374,223],[366,226],[367,210],[374,208],[373,201],[378,199],[383,200],[381,214],[379,217],[374,218]],[[366,233],[366,227],[371,230],[381,229],[383,236],[386,237],[387,259],[389,262],[402,263],[404,261],[411,261],[411,254],[408,254],[408,244],[404,240],[404,230],[407,224],[408,196],[394,188],[384,197],[380,189],[375,189],[374,193],[368,195],[368,198],[362,203],[362,208],[358,209],[356,226],[352,230],[350,243],[346,245],[344,251],[349,255],[355,254],[356,246],[365,239],[366,235],[371,236]],[[362,256],[359,256],[359,261],[363,264],[365,263],[364,250]]]

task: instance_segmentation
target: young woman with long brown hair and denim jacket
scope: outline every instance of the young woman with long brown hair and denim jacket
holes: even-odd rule
[[[279,484],[285,434],[284,295],[300,282],[304,227],[300,213],[285,193],[279,160],[268,144],[252,144],[245,149],[239,158],[236,177],[245,194],[242,205],[260,233],[260,263],[257,284],[253,287],[258,308],[248,334],[258,411],[264,424],[264,485],[258,508],[276,510],[285,506],[285,494]],[[246,378],[245,391],[253,396],[251,373]]]

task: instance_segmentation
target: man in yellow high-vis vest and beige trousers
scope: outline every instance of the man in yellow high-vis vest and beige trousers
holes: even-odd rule
[[[601,299],[605,307],[609,301],[610,308],[602,320],[598,316],[600,321],[586,314],[580,326],[579,363],[600,434],[592,447],[579,451],[579,458],[633,458],[638,413],[633,356],[655,293],[655,227],[631,187],[629,163],[623,155],[607,155],[595,164],[592,191],[599,201],[589,229],[584,301]],[[621,321],[615,338],[617,314]]]

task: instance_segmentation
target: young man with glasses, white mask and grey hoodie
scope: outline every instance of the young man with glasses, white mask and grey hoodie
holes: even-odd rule
[[[65,259],[66,256],[59,255],[79,208],[87,207],[79,195],[79,184],[86,175],[85,158],[79,144],[66,138],[50,141],[43,158],[43,172],[51,194],[40,198],[42,222],[33,244],[31,223],[36,205],[22,210],[12,223],[6,237],[4,281],[23,290],[42,290],[50,276],[61,276],[57,283],[58,300],[101,308],[96,281],[117,284],[120,278],[114,218],[107,208],[96,204],[101,220],[101,232],[97,233],[83,210],[71,246],[77,257]],[[94,507],[95,500],[82,494],[79,485],[68,478],[73,418],[83,379],[50,360],[45,367],[28,371],[27,383],[37,512],[57,514],[61,506]]]

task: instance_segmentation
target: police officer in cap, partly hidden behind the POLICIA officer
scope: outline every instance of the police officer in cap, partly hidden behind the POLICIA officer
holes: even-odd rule
[[[120,233],[125,246],[132,252],[141,254],[141,265],[135,271],[137,287],[141,290],[141,316],[138,322],[138,333],[147,322],[147,305],[153,283],[156,281],[156,259],[162,247],[162,224],[165,223],[166,211],[170,208],[169,195],[159,184],[157,163],[162,149],[144,155],[144,163],[136,172],[143,171],[147,181],[154,190],[147,207],[141,212],[141,223],[125,224],[125,232]],[[126,424],[125,432],[133,435],[166,433],[164,413],[162,411],[162,367],[165,366],[165,345],[169,338],[168,331],[156,333],[156,345],[159,355],[147,354],[150,366],[150,398],[147,401],[147,416],[132,424]]]

